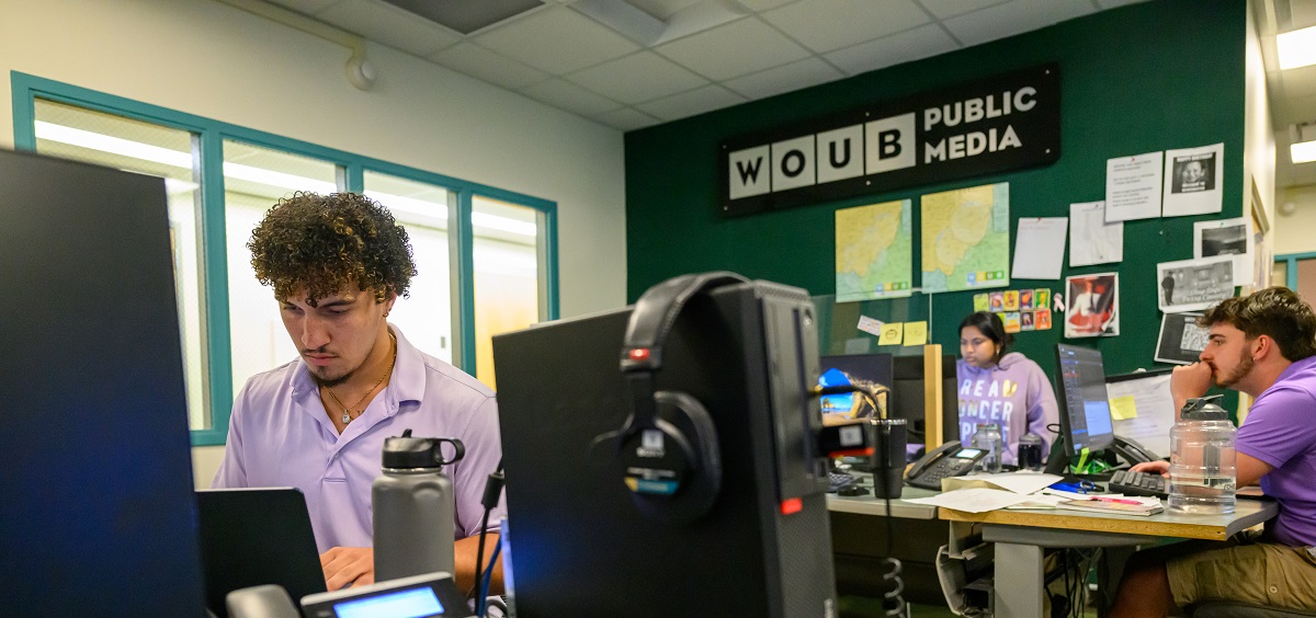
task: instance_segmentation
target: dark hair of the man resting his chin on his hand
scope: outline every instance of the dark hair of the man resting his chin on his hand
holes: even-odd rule
[[[1316,313],[1288,288],[1225,298],[1198,318],[1198,325],[1207,327],[1220,322],[1244,331],[1249,339],[1270,337],[1290,362],[1316,356]]]

